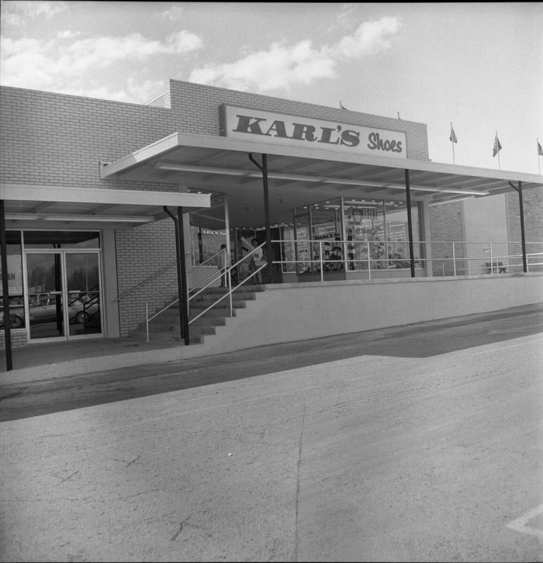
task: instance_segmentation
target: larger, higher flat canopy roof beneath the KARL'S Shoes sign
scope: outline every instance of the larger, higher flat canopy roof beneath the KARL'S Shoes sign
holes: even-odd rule
[[[291,222],[293,208],[338,196],[404,202],[405,170],[409,170],[411,201],[430,204],[510,192],[511,183],[522,182],[523,189],[543,186],[543,176],[523,172],[180,133],[102,165],[101,177],[177,184],[191,193],[228,194],[231,227],[263,225],[262,174],[249,154],[260,164],[262,154],[267,155],[272,224]],[[221,205],[214,209],[212,203],[208,227],[220,228]]]

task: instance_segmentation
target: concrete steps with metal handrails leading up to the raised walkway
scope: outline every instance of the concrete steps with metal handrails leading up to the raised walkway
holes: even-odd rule
[[[224,327],[228,317],[235,317],[236,310],[246,308],[247,301],[255,301],[257,293],[264,290],[264,286],[261,285],[241,286],[236,289],[232,294],[232,315],[230,315],[230,300],[226,296],[226,288],[211,287],[199,293],[189,302],[189,319],[193,320],[200,313],[205,312],[190,324],[191,344],[201,344],[204,342],[205,336],[217,334],[217,327]],[[225,295],[225,297],[219,303],[215,303],[221,295]],[[171,301],[165,302],[164,305],[172,303],[176,297],[172,297]],[[206,311],[210,306],[212,308]],[[146,338],[145,322],[140,322],[136,329],[130,331],[130,336]],[[184,341],[181,338],[181,324],[177,305],[165,310],[149,323],[149,340]]]

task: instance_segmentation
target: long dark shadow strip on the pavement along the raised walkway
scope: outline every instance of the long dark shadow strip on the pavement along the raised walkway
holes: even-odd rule
[[[429,358],[543,332],[543,303],[202,358],[0,386],[0,422],[363,355]],[[537,360],[536,360],[537,361]]]

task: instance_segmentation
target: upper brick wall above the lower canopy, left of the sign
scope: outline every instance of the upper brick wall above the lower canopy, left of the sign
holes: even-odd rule
[[[98,163],[174,132],[170,115],[165,108],[1,87],[0,181],[167,191],[164,184],[101,180]]]

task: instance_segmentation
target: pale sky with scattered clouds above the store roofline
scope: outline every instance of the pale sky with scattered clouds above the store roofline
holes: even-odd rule
[[[0,84],[146,103],[169,79],[425,123],[430,159],[538,174],[543,3],[0,0]],[[492,156],[496,133],[502,149]]]

